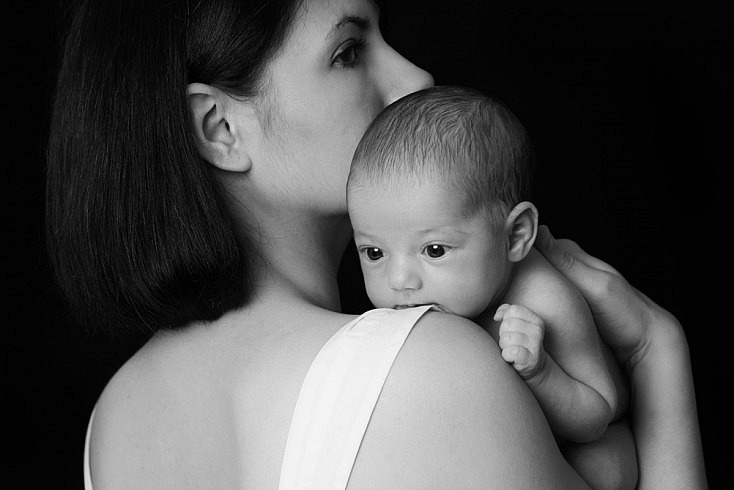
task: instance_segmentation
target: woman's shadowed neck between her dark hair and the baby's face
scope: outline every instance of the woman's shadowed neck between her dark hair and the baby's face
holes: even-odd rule
[[[254,296],[302,300],[340,311],[337,272],[351,239],[346,215],[278,216],[258,222]]]

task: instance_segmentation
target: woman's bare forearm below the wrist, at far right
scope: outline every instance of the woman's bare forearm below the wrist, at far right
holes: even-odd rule
[[[639,487],[707,488],[688,344],[662,313],[647,348],[630,359]]]

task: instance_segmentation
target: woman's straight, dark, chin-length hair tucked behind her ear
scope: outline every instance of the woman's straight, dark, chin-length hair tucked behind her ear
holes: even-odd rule
[[[298,0],[82,0],[61,53],[46,226],[77,319],[110,332],[211,321],[247,299],[243,243],[189,122],[187,84],[240,97]]]

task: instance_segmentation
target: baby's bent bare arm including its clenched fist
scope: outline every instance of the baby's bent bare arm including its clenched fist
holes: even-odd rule
[[[495,338],[551,428],[574,442],[601,436],[616,414],[617,389],[583,297],[533,250],[505,300],[513,306],[497,310]]]

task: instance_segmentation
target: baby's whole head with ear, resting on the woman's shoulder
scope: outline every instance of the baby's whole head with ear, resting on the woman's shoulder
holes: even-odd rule
[[[535,240],[533,166],[522,124],[481,92],[432,87],[388,106],[347,183],[372,303],[473,318],[499,299]]]

